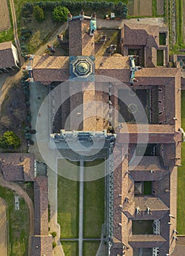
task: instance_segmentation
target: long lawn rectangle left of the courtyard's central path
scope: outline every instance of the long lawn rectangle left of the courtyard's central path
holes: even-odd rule
[[[78,165],[76,165],[79,168]],[[58,176],[58,224],[61,238],[78,238],[79,182]]]

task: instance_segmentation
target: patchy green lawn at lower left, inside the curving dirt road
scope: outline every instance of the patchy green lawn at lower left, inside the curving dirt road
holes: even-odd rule
[[[29,208],[20,198],[20,210],[15,210],[15,192],[0,186],[0,195],[7,202],[7,220],[9,228],[8,255],[27,256],[29,238]],[[1,253],[0,253],[1,254]]]

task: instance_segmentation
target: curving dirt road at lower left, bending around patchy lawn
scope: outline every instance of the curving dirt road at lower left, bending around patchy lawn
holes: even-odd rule
[[[14,190],[20,197],[23,197],[29,207],[29,256],[31,256],[31,236],[34,235],[34,205],[29,195],[23,191],[17,184],[4,181],[2,174],[0,174],[0,185]],[[0,251],[1,252],[1,251]]]

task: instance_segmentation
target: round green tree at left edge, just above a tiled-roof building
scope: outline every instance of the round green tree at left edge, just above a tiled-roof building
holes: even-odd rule
[[[18,148],[20,146],[20,138],[12,131],[4,132],[0,138],[0,146],[1,148]]]

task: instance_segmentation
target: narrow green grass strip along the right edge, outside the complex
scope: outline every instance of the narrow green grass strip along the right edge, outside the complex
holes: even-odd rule
[[[181,121],[185,129],[185,91],[181,91]],[[178,167],[178,200],[177,200],[177,230],[181,235],[185,234],[185,143],[182,143],[181,166]]]

